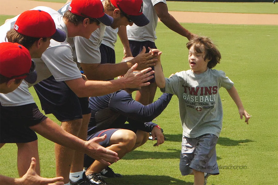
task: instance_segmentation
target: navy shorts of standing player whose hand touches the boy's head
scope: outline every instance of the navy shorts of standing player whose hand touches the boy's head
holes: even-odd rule
[[[148,49],[148,47],[152,48],[152,49],[157,49],[157,47],[155,46],[155,43],[154,42],[151,42],[151,41],[134,41],[134,40],[128,40],[129,42],[129,47],[130,47],[130,50],[131,50],[131,54],[133,57],[136,57],[141,51],[142,51],[142,48],[143,46],[145,46],[146,48],[146,52],[145,53],[148,53],[150,50]],[[152,66],[152,70],[154,70],[155,68]],[[153,76],[155,76],[153,74]],[[150,83],[154,83],[155,82],[155,78],[152,78],[150,80],[148,80],[147,82],[150,82]]]

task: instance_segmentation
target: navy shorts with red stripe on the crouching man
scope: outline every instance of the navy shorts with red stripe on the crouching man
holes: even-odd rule
[[[119,129],[120,128],[112,128],[112,129],[98,131],[98,132],[88,136],[87,141],[89,141],[89,140],[91,140],[95,137],[104,136],[106,134],[107,135],[106,139],[104,141],[99,142],[99,144],[101,146],[106,148],[106,147],[110,146],[109,142],[110,142],[110,138],[111,138],[112,134]],[[91,164],[93,164],[94,161],[95,161],[95,159],[93,159],[90,156],[88,156],[87,154],[85,154],[85,156],[84,156],[84,168],[89,168],[89,166],[91,166]]]

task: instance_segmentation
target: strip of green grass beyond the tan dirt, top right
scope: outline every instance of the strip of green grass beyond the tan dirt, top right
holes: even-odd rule
[[[180,2],[167,1],[169,11],[226,12],[278,14],[278,8],[269,2]]]

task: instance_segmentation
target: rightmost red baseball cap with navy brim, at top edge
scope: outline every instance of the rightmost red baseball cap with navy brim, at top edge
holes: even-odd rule
[[[120,9],[123,14],[136,24],[136,26],[146,26],[149,19],[143,14],[142,0],[110,0],[113,6]]]

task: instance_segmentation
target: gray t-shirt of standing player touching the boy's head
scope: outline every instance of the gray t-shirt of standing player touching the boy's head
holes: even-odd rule
[[[135,24],[126,26],[128,40],[149,40],[154,42],[157,39],[155,29],[157,27],[158,16],[153,6],[159,2],[166,4],[166,0],[143,0],[143,14],[147,16],[150,23],[142,27],[136,26]]]

